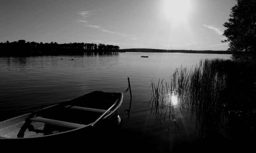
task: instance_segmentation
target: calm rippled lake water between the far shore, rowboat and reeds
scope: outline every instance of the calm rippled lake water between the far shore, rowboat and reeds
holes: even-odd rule
[[[149,56],[141,58],[140,56]],[[195,120],[175,109],[176,124],[164,114],[150,113],[151,80],[170,80],[176,68],[191,68],[205,58],[229,59],[223,54],[109,53],[80,56],[0,57],[1,120],[15,110],[60,102],[92,92],[129,91],[118,113],[123,119],[119,140],[137,139],[154,152],[169,152],[196,141]],[[61,60],[62,58],[62,60]],[[73,60],[71,60],[73,59]],[[23,113],[23,112],[22,112]],[[25,113],[25,112],[24,112]],[[135,142],[126,141],[129,146]]]

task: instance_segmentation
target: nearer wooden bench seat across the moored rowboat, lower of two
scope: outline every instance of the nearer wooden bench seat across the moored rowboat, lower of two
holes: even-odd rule
[[[33,118],[30,118],[29,120],[42,122],[42,123],[48,123],[48,124],[52,124],[52,125],[58,125],[58,126],[62,126],[62,127],[68,127],[68,128],[82,128],[82,127],[87,126],[84,124],[65,122],[65,121],[61,121],[61,120],[46,119],[43,117],[33,117]]]

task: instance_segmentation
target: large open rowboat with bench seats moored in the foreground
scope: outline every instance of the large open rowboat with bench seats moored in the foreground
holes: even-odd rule
[[[0,122],[0,144],[9,140],[53,140],[55,137],[60,140],[90,133],[91,129],[110,121],[119,124],[121,119],[116,111],[122,101],[123,93],[94,91],[4,120]]]

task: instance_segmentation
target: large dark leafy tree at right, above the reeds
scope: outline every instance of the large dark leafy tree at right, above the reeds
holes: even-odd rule
[[[256,50],[256,0],[236,0],[232,7],[228,22],[224,23],[227,29],[222,42],[229,42],[228,51],[232,58],[238,61],[255,63]]]

